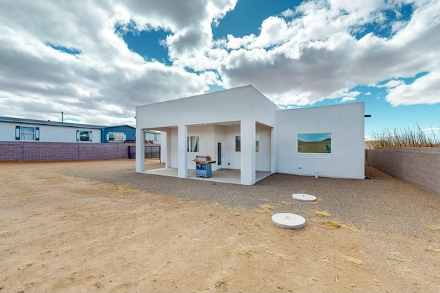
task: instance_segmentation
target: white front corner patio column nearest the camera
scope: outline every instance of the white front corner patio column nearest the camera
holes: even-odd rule
[[[241,120],[241,184],[255,184],[255,121],[253,119]]]

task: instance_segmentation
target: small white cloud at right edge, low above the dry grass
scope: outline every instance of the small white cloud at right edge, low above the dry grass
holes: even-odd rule
[[[390,89],[385,99],[393,106],[440,103],[440,71],[417,78],[412,84]]]

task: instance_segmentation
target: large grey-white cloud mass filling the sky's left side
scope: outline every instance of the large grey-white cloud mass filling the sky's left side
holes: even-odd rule
[[[210,24],[235,2],[6,1],[0,10],[0,115],[57,120],[63,111],[81,123],[134,124],[137,105],[203,93],[218,82],[215,73],[146,62],[115,25],[166,30],[170,57],[184,64],[208,52],[199,62],[205,70],[225,55],[211,48]]]

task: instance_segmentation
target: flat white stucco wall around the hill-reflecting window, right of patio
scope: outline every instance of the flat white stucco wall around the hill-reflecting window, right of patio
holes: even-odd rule
[[[331,154],[298,153],[298,134],[331,133]],[[364,178],[364,104],[281,110],[276,124],[277,172]]]

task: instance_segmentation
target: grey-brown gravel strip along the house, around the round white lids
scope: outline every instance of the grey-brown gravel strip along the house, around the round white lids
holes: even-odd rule
[[[359,231],[377,230],[428,240],[437,239],[440,233],[428,228],[440,225],[439,196],[374,168],[370,168],[374,178],[366,180],[272,174],[255,185],[245,186],[139,174],[135,173],[134,161],[115,162],[120,167],[98,170],[86,162],[59,173],[241,209],[259,209],[262,204],[270,204],[274,206],[273,213],[296,213],[315,222],[338,220]],[[148,169],[159,166],[148,165]],[[318,200],[293,200],[292,194],[298,193],[314,195]],[[311,215],[312,211],[327,211],[329,217],[316,217]]]

